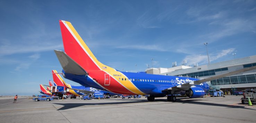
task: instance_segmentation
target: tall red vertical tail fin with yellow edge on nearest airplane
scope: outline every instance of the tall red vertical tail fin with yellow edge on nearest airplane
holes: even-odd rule
[[[100,63],[70,22],[60,20],[65,53],[84,70],[102,70],[109,67]]]

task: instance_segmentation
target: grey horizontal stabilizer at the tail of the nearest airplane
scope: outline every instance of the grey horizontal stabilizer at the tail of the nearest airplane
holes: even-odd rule
[[[86,75],[88,74],[79,64],[72,60],[66,53],[59,50],[54,50],[56,53],[63,70],[66,73],[76,74],[76,75]]]

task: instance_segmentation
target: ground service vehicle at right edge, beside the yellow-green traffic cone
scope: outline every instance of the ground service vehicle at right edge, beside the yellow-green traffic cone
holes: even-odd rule
[[[256,89],[245,89],[243,96],[244,98],[241,98],[242,104],[248,103],[248,97],[251,103],[256,103]]]

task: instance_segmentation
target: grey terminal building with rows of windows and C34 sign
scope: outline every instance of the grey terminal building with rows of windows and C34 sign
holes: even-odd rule
[[[252,66],[256,66],[256,55],[218,63],[211,63],[202,66],[194,64],[194,67],[189,67],[185,65],[176,66],[174,64],[172,68],[146,69],[146,73],[204,79]],[[231,94],[232,90],[241,91],[248,88],[256,89],[255,74],[256,70],[251,70],[239,74],[234,74],[228,77],[208,81],[208,84],[213,89],[220,89],[224,92],[230,91]]]

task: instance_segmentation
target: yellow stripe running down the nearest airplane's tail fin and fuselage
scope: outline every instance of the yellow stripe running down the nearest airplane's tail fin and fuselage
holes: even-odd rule
[[[72,26],[72,24],[68,21],[65,21],[65,23],[68,25],[68,27],[71,29],[72,33],[76,36],[76,38],[78,39],[79,43],[82,44],[83,48],[86,50],[86,52],[88,53],[88,55],[91,57],[91,59],[96,63],[96,65],[98,65],[99,69],[105,71],[106,73],[108,73],[110,76],[112,76],[113,78],[115,78],[121,85],[123,85],[124,87],[126,87],[128,90],[130,90],[131,92],[135,93],[135,94],[139,94],[139,95],[145,95],[142,91],[140,91],[124,74],[122,74],[119,71],[116,71],[115,69],[108,67],[104,64],[102,64],[101,62],[99,62],[96,57],[93,55],[92,51],[89,49],[89,47],[85,44],[85,42],[83,41],[83,39],[80,37],[80,35],[76,32],[75,28]],[[104,68],[104,69],[103,69]],[[126,81],[122,81],[119,80],[119,77],[114,77],[113,74],[122,74],[123,77],[127,78],[128,80]]]

